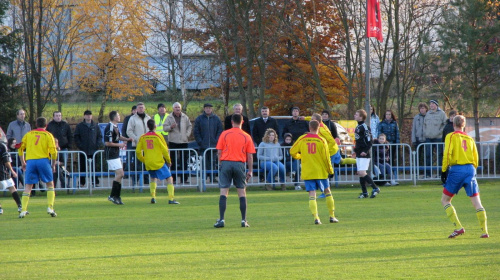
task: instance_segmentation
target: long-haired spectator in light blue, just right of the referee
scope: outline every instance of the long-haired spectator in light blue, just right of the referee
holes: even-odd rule
[[[281,190],[285,191],[285,166],[281,161],[283,160],[283,149],[278,143],[278,135],[274,129],[269,128],[266,130],[262,142],[259,144],[257,150],[257,158],[261,169],[267,172],[266,181],[271,185],[266,184],[265,189],[271,191],[274,189],[274,177],[278,173],[279,181],[281,183]]]

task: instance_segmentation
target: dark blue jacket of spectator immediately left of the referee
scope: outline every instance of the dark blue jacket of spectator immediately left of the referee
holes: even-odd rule
[[[208,116],[203,113],[194,121],[194,139],[200,150],[215,148],[222,133],[222,122],[215,114]]]

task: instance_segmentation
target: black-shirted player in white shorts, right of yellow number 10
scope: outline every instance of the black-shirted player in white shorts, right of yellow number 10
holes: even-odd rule
[[[380,189],[375,185],[373,179],[366,173],[370,166],[370,150],[372,148],[372,133],[370,128],[365,124],[366,111],[363,109],[357,110],[354,114],[354,120],[358,122],[358,126],[354,130],[354,138],[356,144],[354,146],[354,154],[356,156],[356,168],[358,169],[359,183],[361,184],[362,193],[358,198],[367,198],[368,191],[366,183],[372,187],[370,198],[375,198],[380,193]]]

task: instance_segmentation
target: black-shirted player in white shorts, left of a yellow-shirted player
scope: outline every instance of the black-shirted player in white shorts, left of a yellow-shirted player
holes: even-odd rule
[[[123,165],[120,159],[120,148],[126,147],[126,141],[132,141],[132,138],[123,137],[118,129],[120,114],[116,111],[109,112],[109,123],[104,128],[104,153],[108,162],[108,169],[115,172],[115,179],[111,187],[111,194],[108,200],[114,204],[122,205],[121,191],[123,178]],[[125,143],[120,143],[125,141]]]

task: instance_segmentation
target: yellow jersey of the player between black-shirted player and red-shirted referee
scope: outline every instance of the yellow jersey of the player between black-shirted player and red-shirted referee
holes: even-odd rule
[[[167,143],[163,136],[156,132],[150,131],[142,135],[135,153],[137,159],[146,165],[146,170],[158,170],[165,165],[165,162],[170,164]]]

